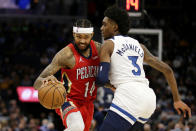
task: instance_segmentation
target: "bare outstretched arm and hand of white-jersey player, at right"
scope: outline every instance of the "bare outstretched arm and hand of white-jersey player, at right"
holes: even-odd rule
[[[186,111],[187,111],[189,117],[191,117],[191,109],[183,101],[181,101],[177,88],[176,79],[174,77],[172,68],[165,62],[153,56],[143,44],[141,44],[141,47],[144,50],[144,62],[146,62],[148,65],[155,68],[156,70],[162,72],[165,78],[167,79],[169,87],[171,88],[172,91],[174,108],[177,110],[178,114],[181,114],[180,110],[182,110],[184,117],[186,117]]]

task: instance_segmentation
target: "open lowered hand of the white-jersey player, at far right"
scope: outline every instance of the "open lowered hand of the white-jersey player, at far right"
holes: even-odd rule
[[[183,101],[174,102],[174,108],[177,110],[179,115],[181,115],[181,111],[182,111],[184,117],[186,117],[186,112],[188,113],[189,118],[191,117],[191,109]]]

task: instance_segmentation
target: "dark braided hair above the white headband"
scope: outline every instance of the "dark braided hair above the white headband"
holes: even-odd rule
[[[93,27],[92,23],[88,19],[78,19],[74,23],[74,26],[75,27],[84,27],[84,28]]]

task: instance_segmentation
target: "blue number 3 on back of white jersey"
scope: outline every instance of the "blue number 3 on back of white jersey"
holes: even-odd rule
[[[135,76],[139,76],[141,75],[141,69],[139,67],[139,65],[136,63],[137,62],[137,59],[138,59],[138,56],[128,56],[129,60],[132,61],[132,64],[136,69],[132,70],[132,73],[135,75]]]

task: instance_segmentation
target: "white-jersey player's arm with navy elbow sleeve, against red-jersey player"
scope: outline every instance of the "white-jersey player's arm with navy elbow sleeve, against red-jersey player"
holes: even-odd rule
[[[110,70],[111,55],[114,50],[114,43],[111,40],[106,40],[101,47],[100,51],[100,66],[96,79],[98,86],[104,86],[109,82],[108,75]]]

